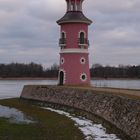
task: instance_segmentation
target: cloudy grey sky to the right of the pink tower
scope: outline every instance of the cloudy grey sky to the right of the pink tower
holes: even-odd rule
[[[91,63],[140,64],[140,1],[99,0],[87,7],[87,15],[94,21],[90,29]]]

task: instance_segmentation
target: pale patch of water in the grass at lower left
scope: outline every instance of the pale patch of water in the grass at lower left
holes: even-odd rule
[[[34,123],[34,121],[25,116],[25,114],[15,108],[9,108],[0,105],[0,117],[9,119],[10,122],[14,123]]]

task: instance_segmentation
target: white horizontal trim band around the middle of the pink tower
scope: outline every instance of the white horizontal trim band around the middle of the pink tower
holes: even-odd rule
[[[60,53],[88,53],[87,49],[62,49]]]

